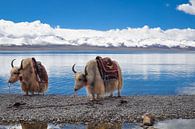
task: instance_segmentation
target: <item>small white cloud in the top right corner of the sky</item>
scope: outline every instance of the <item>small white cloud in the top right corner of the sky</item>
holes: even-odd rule
[[[195,0],[190,0],[189,3],[178,5],[177,9],[185,13],[195,15]]]

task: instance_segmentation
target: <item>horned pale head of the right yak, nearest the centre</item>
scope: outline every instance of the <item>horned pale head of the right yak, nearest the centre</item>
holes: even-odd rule
[[[75,64],[72,66],[72,71],[75,74],[75,85],[74,85],[74,91],[78,91],[79,89],[81,89],[82,87],[84,87],[87,83],[87,72],[86,72],[86,67],[85,67],[85,73],[82,72],[77,72],[75,70]]]

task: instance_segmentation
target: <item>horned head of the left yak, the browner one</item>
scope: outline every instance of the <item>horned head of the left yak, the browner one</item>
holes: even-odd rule
[[[22,68],[23,60],[21,62],[20,67],[14,66],[14,64],[13,64],[14,60],[16,60],[16,59],[13,59],[12,62],[11,62],[12,69],[11,69],[11,72],[10,72],[10,78],[8,80],[8,83],[15,83],[16,81],[20,80],[20,78],[21,78],[20,73],[21,73],[21,70],[23,69]]]

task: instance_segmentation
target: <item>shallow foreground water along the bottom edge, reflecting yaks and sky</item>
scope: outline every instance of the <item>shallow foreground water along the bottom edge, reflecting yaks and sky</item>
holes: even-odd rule
[[[158,122],[154,125],[156,129],[194,129],[195,119],[174,119]],[[0,125],[0,129],[142,129],[131,123],[89,123],[84,124],[47,124],[22,122],[17,125]]]

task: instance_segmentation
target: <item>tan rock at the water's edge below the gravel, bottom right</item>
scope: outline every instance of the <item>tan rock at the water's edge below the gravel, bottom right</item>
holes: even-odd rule
[[[143,125],[153,126],[155,119],[152,114],[146,113],[142,116],[142,118],[143,118]]]

